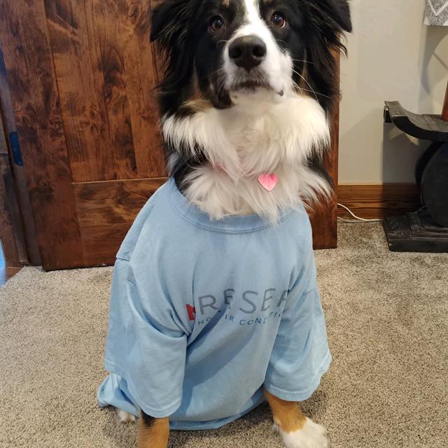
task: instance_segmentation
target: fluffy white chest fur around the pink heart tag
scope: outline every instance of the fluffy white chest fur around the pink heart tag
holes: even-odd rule
[[[255,213],[275,222],[280,209],[328,194],[328,183],[307,165],[309,155],[320,154],[330,141],[318,102],[272,92],[237,94],[232,101],[230,109],[209,107],[162,119],[172,147],[202,151],[209,161],[185,179],[190,202],[214,219]],[[258,182],[263,173],[278,177],[274,190]]]

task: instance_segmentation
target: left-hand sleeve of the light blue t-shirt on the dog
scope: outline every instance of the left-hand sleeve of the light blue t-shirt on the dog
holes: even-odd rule
[[[114,279],[111,291],[106,368],[126,380],[146,414],[169,416],[182,401],[186,331],[155,276],[134,276],[126,260],[118,265],[114,276],[121,278]]]

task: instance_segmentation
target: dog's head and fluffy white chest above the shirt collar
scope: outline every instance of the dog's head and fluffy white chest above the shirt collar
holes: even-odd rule
[[[169,172],[211,216],[276,221],[328,195],[319,160],[337,97],[346,0],[166,0],[151,40],[165,57],[161,128]],[[271,176],[260,185],[260,176]],[[269,181],[269,177],[267,178]]]

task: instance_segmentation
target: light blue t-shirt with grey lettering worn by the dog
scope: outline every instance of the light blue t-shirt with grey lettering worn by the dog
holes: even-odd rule
[[[173,179],[151,197],[118,251],[99,405],[218,428],[263,386],[309,398],[330,360],[303,207],[272,226],[211,221]]]

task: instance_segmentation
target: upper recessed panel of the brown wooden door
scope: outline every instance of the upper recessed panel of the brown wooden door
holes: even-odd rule
[[[150,2],[45,6],[73,181],[162,176]]]

